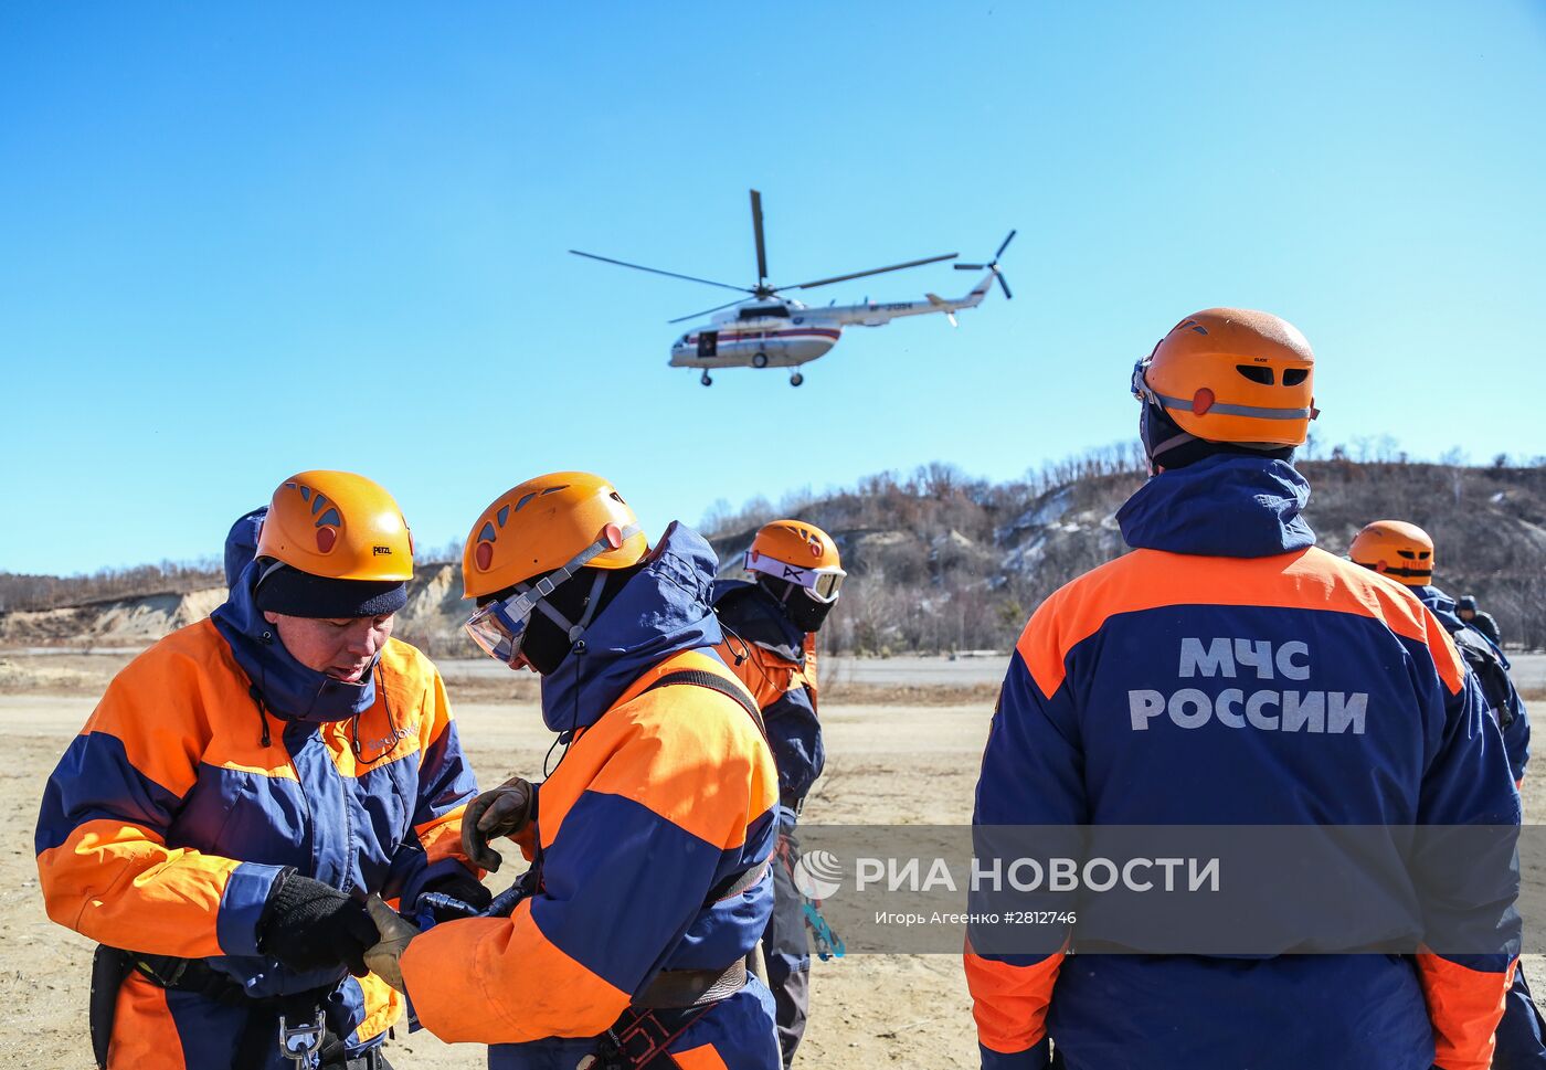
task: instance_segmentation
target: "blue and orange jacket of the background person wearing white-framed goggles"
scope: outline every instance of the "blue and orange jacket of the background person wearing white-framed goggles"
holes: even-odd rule
[[[714,614],[727,632],[719,656],[762,710],[779,795],[793,812],[827,764],[816,719],[816,637],[796,628],[761,584],[745,580],[714,584]]]

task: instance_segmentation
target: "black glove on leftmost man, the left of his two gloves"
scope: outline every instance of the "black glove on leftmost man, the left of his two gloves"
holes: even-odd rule
[[[286,869],[274,883],[258,923],[258,948],[297,973],[345,965],[369,973],[365,951],[380,937],[365,903]]]

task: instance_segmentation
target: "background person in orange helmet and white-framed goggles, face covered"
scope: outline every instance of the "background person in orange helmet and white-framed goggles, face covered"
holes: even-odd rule
[[[793,866],[799,860],[796,816],[826,764],[816,719],[816,631],[847,574],[832,537],[799,520],[765,524],[747,550],[745,567],[750,581],[714,584],[714,612],[727,632],[719,656],[762,708],[778,764],[778,861],[762,951],[787,1067],[810,1011],[810,939]]]

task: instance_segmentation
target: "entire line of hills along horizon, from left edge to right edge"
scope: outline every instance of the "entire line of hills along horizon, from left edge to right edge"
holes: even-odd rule
[[[1475,594],[1504,639],[1546,648],[1546,465],[1306,461],[1306,518],[1343,554],[1371,520],[1408,520],[1438,544],[1438,583]],[[778,506],[716,506],[703,530],[722,571],[737,571],[758,526],[802,516],[830,532],[850,581],[822,631],[833,649],[1005,649],[1031,609],[1124,546],[1116,510],[1142,482],[1125,450],[1091,453],[1014,482],[935,464],[878,475]],[[96,577],[0,574],[0,645],[142,645],[220,603],[212,564],[162,564]],[[438,656],[465,654],[467,603],[451,563],[421,563],[399,634]]]

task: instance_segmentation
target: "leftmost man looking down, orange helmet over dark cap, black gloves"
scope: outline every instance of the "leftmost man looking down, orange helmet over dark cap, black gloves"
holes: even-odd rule
[[[366,973],[365,894],[481,891],[445,688],[390,637],[408,527],[369,479],[303,472],[227,566],[229,600],[130,662],[49,778],[48,914],[104,945],[99,1065],[292,1068],[283,1016],[320,1022],[312,1065],[385,1067],[404,1000]]]

